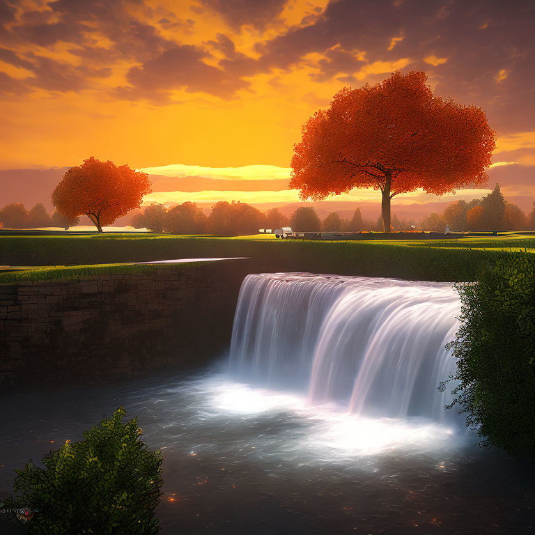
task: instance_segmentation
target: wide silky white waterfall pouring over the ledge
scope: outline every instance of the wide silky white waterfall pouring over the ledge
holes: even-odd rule
[[[369,417],[459,419],[441,380],[458,329],[451,284],[309,273],[251,274],[236,309],[231,373],[311,405]]]

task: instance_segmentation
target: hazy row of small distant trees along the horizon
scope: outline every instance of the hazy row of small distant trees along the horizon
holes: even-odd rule
[[[175,234],[249,235],[258,233],[259,228],[281,228],[290,226],[295,231],[381,231],[379,217],[373,221],[363,219],[357,208],[351,219],[341,218],[338,212],[331,212],[323,221],[313,206],[301,206],[286,217],[279,208],[261,212],[247,203],[220,201],[212,206],[210,215],[196,206],[185,202],[172,208],[162,204],[146,206],[141,213],[132,217],[134,228],[148,228],[155,232]],[[68,228],[78,224],[79,219],[67,220],[59,212],[49,214],[42,203],[31,210],[24,205],[11,203],[0,210],[0,223],[6,228],[38,228],[59,226]],[[470,202],[458,201],[445,208],[444,212],[433,212],[428,217],[414,219],[391,219],[393,231],[440,231],[446,228],[452,232],[462,231],[522,231],[535,230],[535,208],[529,215],[513,203],[504,199],[499,185],[483,199]]]

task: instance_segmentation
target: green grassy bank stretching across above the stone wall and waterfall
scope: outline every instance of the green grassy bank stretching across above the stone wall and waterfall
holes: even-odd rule
[[[123,272],[121,270],[125,269],[157,269],[146,265],[111,265],[128,262],[247,256],[265,258],[274,270],[279,271],[473,281],[478,279],[484,267],[510,254],[511,249],[529,250],[533,247],[533,238],[522,240],[518,236],[495,240],[472,238],[407,242],[295,241],[274,240],[267,236],[215,238],[153,234],[5,236],[0,238],[0,264],[55,266],[3,275],[30,280],[59,278],[57,275],[65,277],[65,274],[74,275],[75,272],[85,275]]]

